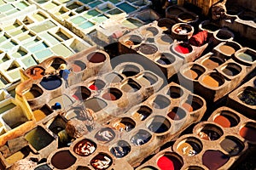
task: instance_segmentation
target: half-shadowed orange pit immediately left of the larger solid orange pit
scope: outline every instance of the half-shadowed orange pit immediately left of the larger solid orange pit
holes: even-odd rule
[[[198,80],[198,78],[205,72],[205,68],[201,65],[192,65],[188,70],[183,71],[183,75],[192,80]]]

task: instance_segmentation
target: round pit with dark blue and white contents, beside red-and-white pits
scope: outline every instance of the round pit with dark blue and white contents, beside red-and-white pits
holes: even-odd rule
[[[131,146],[124,140],[119,140],[117,144],[114,144],[113,147],[110,149],[110,152],[113,156],[121,158],[125,157],[131,151]]]

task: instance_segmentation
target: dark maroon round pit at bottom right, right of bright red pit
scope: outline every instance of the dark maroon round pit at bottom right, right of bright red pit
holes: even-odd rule
[[[230,160],[229,156],[224,155],[219,150],[207,150],[202,156],[202,163],[211,170],[223,167]]]

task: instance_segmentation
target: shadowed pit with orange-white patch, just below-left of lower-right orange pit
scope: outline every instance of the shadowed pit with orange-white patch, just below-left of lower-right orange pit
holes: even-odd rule
[[[201,128],[201,131],[197,133],[201,139],[217,140],[223,135],[223,131],[220,127],[213,124],[206,124]]]

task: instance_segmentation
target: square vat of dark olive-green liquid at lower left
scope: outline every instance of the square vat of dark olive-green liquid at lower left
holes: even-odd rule
[[[44,149],[54,141],[54,137],[47,133],[43,127],[32,129],[30,132],[26,133],[25,139],[38,151]]]

